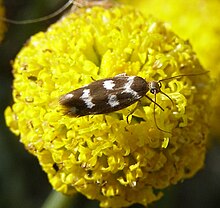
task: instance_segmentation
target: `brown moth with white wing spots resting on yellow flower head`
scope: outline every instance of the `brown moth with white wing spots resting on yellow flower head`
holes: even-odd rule
[[[61,96],[59,103],[64,107],[66,115],[71,117],[80,117],[86,115],[107,114],[118,111],[140,101],[143,97],[147,97],[154,103],[154,120],[156,127],[163,132],[167,132],[158,127],[155,118],[156,105],[161,110],[164,110],[156,103],[157,93],[162,93],[173,103],[172,99],[161,91],[161,81],[205,73],[207,72],[177,75],[159,81],[150,82],[147,82],[139,76],[119,74],[112,78],[94,81],[86,86],[73,90]],[[151,99],[147,95],[148,91],[155,95],[155,100]]]

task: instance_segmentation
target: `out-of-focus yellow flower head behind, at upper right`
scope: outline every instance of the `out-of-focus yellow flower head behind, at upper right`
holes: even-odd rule
[[[155,15],[170,22],[174,31],[189,39],[202,65],[216,79],[212,91],[220,92],[220,1],[219,0],[121,0],[139,8],[146,16]],[[158,6],[159,5],[159,6]],[[211,106],[215,113],[211,121],[212,132],[220,135],[220,99],[213,96]]]

